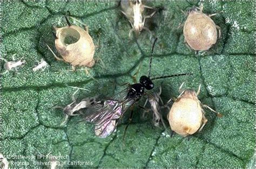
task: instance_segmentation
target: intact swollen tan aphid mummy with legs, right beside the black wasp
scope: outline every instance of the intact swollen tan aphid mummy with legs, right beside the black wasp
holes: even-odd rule
[[[181,91],[183,84],[179,87],[180,95],[173,103],[171,110],[167,115],[167,119],[169,120],[172,131],[186,137],[197,131],[200,132],[207,123],[203,109],[204,107],[217,113],[218,117],[221,117],[222,115],[214,111],[211,107],[201,104],[197,97],[201,85],[199,85],[197,92],[194,90]]]

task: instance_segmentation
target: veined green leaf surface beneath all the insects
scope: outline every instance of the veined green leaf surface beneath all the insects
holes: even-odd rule
[[[96,137],[94,125],[80,122],[79,117],[61,126],[65,115],[56,106],[72,102],[76,89],[69,86],[86,89],[75,95],[78,100],[107,98],[122,91],[124,83],[133,83],[134,73],[138,72],[137,80],[147,75],[153,38],[145,30],[137,39],[129,37],[130,23],[114,1],[3,2],[2,56],[11,60],[16,54],[16,60],[26,60],[17,72],[2,76],[0,152],[10,167],[50,167],[50,155],[62,157],[57,159],[60,168],[253,167],[254,1],[205,2],[205,13],[218,13],[212,19],[220,26],[221,37],[210,50],[198,55],[183,43],[180,26],[186,21],[181,11],[198,6],[198,1],[150,1],[147,5],[164,9],[145,23],[152,37],[158,37],[152,77],[193,73],[155,80],[156,87],[149,93],[161,86],[161,98],[166,103],[179,95],[181,83],[185,82],[184,89],[194,90],[201,84],[199,99],[223,117],[206,110],[206,126],[188,138],[178,134],[171,137],[167,109],[161,110],[168,124],[165,130],[163,125],[153,125],[151,111],[138,106],[125,135],[130,110],[116,132],[105,139]],[[97,46],[98,61],[89,72],[72,71],[70,64],[56,60],[45,45],[57,53],[52,26],[65,26],[67,11],[89,26]],[[73,19],[70,22],[83,27]],[[32,67],[41,59],[49,66],[45,71],[33,72]],[[142,98],[137,105],[145,100]]]

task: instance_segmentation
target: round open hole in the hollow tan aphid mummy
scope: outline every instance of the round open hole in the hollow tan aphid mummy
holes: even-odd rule
[[[80,33],[73,28],[63,29],[60,34],[60,40],[64,44],[73,44],[76,43],[80,39]]]

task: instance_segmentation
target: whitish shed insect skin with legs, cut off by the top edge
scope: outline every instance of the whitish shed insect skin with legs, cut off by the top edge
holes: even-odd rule
[[[132,29],[129,32],[129,37],[131,37],[132,31],[136,33],[136,36],[138,36],[143,29],[151,33],[149,28],[146,28],[144,24],[145,24],[146,18],[151,18],[157,11],[154,11],[153,13],[151,13],[151,15],[143,17],[144,8],[148,8],[148,9],[153,9],[153,8],[142,4],[141,0],[121,1],[121,8],[122,8],[121,12],[126,16],[126,18],[129,20],[132,26]]]

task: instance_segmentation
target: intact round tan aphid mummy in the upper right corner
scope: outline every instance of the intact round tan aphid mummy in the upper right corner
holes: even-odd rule
[[[203,13],[203,4],[200,4],[200,8],[193,8],[188,13],[183,33],[185,42],[193,50],[205,51],[217,42],[217,29],[220,37],[220,27],[211,19],[211,16],[214,15],[217,13],[211,15]]]

